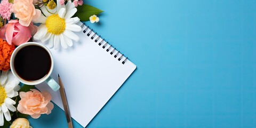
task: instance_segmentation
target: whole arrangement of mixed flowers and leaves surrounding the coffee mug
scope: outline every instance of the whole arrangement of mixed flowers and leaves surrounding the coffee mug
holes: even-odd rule
[[[10,58],[15,47],[33,40],[55,50],[67,49],[79,41],[74,32],[82,28],[76,23],[99,22],[96,15],[101,12],[83,0],[1,1],[0,127],[29,127],[27,116],[39,118],[53,109],[49,92],[39,92],[34,85],[23,85],[14,77]]]

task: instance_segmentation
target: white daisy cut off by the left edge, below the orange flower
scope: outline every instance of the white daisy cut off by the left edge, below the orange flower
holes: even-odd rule
[[[6,121],[11,121],[10,111],[16,111],[15,101],[11,98],[18,96],[20,90],[20,82],[15,78],[11,71],[2,71],[0,78],[0,126],[4,125],[4,117]],[[10,111],[9,111],[10,110]]]

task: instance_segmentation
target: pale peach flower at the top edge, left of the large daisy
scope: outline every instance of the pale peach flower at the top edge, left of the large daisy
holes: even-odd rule
[[[35,9],[33,0],[14,0],[12,9],[15,17],[19,18],[19,23],[22,26],[28,27],[32,20],[37,20],[41,15],[41,11]]]

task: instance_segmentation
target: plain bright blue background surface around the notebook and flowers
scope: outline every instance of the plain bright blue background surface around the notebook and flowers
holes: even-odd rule
[[[255,0],[85,3],[105,11],[86,25],[137,65],[88,127],[256,127]],[[67,127],[58,106],[29,121]]]

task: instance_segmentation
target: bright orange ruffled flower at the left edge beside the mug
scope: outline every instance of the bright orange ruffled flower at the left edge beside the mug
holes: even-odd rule
[[[0,38],[0,70],[7,71],[10,69],[10,59],[15,46],[9,45]]]

